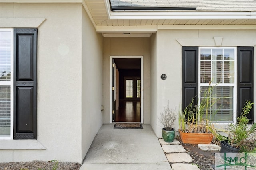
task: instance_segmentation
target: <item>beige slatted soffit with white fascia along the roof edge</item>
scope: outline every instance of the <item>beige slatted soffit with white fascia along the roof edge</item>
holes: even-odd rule
[[[120,2],[124,3],[125,0],[120,0]],[[223,10],[223,7],[222,10],[212,10],[213,8],[204,10],[201,8],[194,11],[148,10],[113,12],[110,9],[108,0],[84,0],[83,4],[98,32],[104,32],[102,28],[104,30],[108,30],[107,28],[109,28],[115,32],[114,29],[116,26],[256,25],[256,1],[250,0],[250,3],[253,4],[253,2],[255,2],[255,6],[249,8],[249,10],[253,11],[242,11],[239,9],[230,11]]]

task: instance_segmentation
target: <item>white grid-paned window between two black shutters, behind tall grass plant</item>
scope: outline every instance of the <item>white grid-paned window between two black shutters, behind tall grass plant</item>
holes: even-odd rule
[[[236,122],[236,47],[199,47],[198,94],[213,86],[207,118],[215,122]],[[215,101],[214,101],[215,100]]]

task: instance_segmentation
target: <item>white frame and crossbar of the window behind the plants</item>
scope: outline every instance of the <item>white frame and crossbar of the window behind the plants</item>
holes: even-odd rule
[[[216,46],[209,46],[209,47],[198,47],[199,53],[198,53],[198,102],[200,103],[200,89],[201,86],[209,86],[208,83],[201,83],[200,81],[200,70],[201,70],[201,49],[234,49],[234,83],[228,84],[217,84],[212,83],[211,86],[234,86],[234,97],[233,97],[233,121],[214,121],[214,124],[220,124],[220,125],[228,125],[230,123],[236,122],[237,117],[237,111],[236,111],[236,105],[237,105],[237,47],[216,47]]]

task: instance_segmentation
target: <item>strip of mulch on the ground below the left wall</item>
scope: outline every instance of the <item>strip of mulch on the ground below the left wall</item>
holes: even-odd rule
[[[0,163],[0,170],[79,170],[81,164],[72,162],[38,161]]]

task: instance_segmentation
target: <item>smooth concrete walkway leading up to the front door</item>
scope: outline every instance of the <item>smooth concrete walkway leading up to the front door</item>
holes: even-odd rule
[[[80,170],[171,170],[171,166],[151,125],[114,129],[114,124],[104,124]]]

